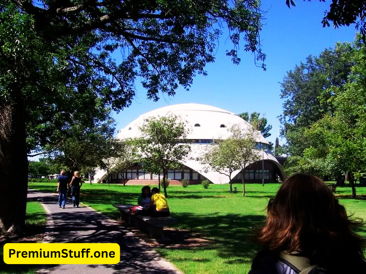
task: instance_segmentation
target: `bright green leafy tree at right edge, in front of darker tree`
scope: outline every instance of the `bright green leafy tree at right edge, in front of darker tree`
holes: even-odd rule
[[[351,67],[347,81],[324,90],[322,94],[331,95],[326,100],[327,108],[319,108],[323,115],[301,128],[302,151],[291,154],[287,167],[319,176],[339,177],[347,173],[353,197],[356,197],[354,175],[366,169],[365,56],[366,46],[356,40],[352,54],[348,55]],[[322,94],[319,101],[324,100]],[[290,135],[293,136],[296,135]],[[300,141],[300,135],[296,138]]]

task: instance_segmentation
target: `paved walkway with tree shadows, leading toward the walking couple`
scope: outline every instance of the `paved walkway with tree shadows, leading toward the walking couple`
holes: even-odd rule
[[[58,206],[56,194],[35,190],[28,191],[28,200],[40,202],[47,211],[43,242],[118,243],[121,249],[120,262],[116,265],[42,265],[38,273],[182,273],[118,222],[88,206],[73,207],[68,198],[69,204],[62,209]]]

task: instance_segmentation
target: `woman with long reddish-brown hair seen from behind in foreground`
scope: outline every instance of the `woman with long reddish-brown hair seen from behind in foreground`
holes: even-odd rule
[[[365,273],[364,239],[328,186],[308,174],[287,178],[267,207],[250,274]]]

